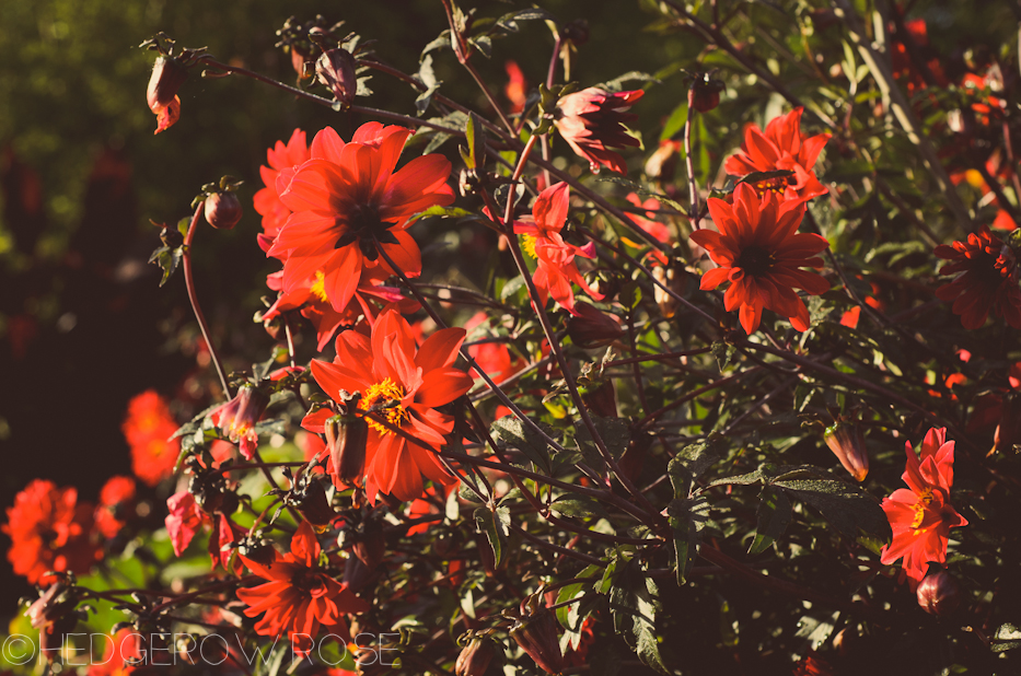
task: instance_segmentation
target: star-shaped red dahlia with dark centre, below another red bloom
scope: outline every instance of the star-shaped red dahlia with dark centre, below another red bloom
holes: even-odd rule
[[[813,233],[798,233],[804,203],[779,200],[773,193],[759,199],[747,184],[734,189],[734,203],[709,198],[709,213],[719,232],[697,230],[692,241],[704,247],[720,267],[701,277],[701,289],[724,281],[723,306],[740,307],[741,326],[750,335],[758,328],[763,308],[788,317],[799,331],[809,328],[809,311],[793,289],[812,295],[829,290],[829,282],[802,267],[821,268],[814,257],[829,243]]]

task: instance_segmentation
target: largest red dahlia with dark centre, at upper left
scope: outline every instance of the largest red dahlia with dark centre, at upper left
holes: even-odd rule
[[[361,271],[382,266],[378,246],[410,277],[421,272],[418,245],[405,231],[408,219],[454,201],[446,179],[450,162],[424,155],[394,172],[410,130],[369,123],[350,143],[327,127],[312,141],[312,159],[280,194],[293,213],[269,255],[283,260],[283,291],[323,273],[323,290],[337,312],[350,302]],[[281,178],[283,175],[281,175]],[[278,179],[279,182],[280,179]]]

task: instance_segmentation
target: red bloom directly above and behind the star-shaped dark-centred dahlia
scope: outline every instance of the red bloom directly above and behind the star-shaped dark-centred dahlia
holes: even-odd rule
[[[790,171],[787,178],[773,178],[755,184],[759,194],[767,191],[781,195],[784,199],[807,201],[828,193],[819,182],[812,167],[822,152],[829,133],[808,137],[801,133],[801,113],[794,108],[787,115],[769,120],[763,132],[757,125],[749,125],[744,131],[741,152],[727,159],[723,168],[731,176],[746,176],[755,172]]]

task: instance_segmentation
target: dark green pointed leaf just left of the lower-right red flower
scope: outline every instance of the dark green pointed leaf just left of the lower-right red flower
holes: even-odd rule
[[[892,536],[879,502],[856,486],[835,479],[776,479],[770,483],[819,510],[845,537],[854,540],[859,532],[886,540]]]

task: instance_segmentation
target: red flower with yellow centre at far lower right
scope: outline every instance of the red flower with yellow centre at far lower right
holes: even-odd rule
[[[930,561],[947,561],[950,529],[967,525],[950,504],[953,446],[947,441],[947,428],[929,430],[919,455],[906,442],[907,465],[901,478],[908,487],[883,500],[893,541],[883,547],[881,561],[890,564],[903,557],[901,568],[912,591],[926,576]]]

